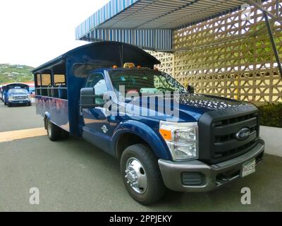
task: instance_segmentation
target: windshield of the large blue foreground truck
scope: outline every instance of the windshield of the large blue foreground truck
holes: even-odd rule
[[[167,73],[152,70],[130,69],[109,71],[114,89],[119,92],[122,87],[125,93],[188,93],[185,88]]]

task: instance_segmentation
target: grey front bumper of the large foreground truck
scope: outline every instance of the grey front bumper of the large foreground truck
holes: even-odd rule
[[[257,165],[262,160],[263,154],[264,141],[259,140],[259,143],[244,155],[215,165],[207,165],[199,160],[171,162],[160,159],[159,168],[168,189],[186,192],[212,191],[239,178],[245,162],[256,159]],[[194,180],[197,185],[192,183],[188,185],[183,181],[183,176],[187,174],[190,175],[191,182]]]

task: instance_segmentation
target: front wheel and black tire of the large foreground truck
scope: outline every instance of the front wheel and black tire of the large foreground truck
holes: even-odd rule
[[[135,167],[137,170],[132,171],[130,169],[130,166],[128,166],[130,162],[132,164],[130,166]],[[125,172],[126,169],[130,169],[130,173]],[[130,185],[133,184],[130,183],[133,181],[131,172],[133,172],[133,175],[135,173],[140,175],[137,188]],[[152,150],[145,144],[131,145],[123,151],[121,155],[121,175],[130,196],[142,205],[155,203],[166,193],[166,187],[161,177],[157,157],[154,156]],[[144,177],[147,178],[147,184],[144,182]],[[145,189],[142,189],[142,184],[146,186]]]

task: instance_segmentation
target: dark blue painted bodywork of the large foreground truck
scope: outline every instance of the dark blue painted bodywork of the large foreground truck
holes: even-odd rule
[[[142,33],[139,35],[141,36]],[[137,38],[137,35],[135,38]],[[123,49],[123,59],[121,59],[121,49]],[[87,78],[75,76],[73,66],[75,64],[97,65],[97,69],[89,73],[102,73],[107,90],[113,91],[109,72],[112,70],[132,70],[112,69],[114,65],[122,67],[125,62],[132,62],[135,65],[149,68],[138,69],[145,70],[146,73],[149,73],[149,70],[154,68],[154,64],[159,64],[159,61],[147,52],[130,44],[96,42],[73,49],[61,57],[39,66],[33,71],[35,78],[37,73],[52,69],[52,66],[57,67],[60,65],[65,69],[68,100],[37,95],[37,114],[48,117],[54,124],[69,131],[71,135],[82,136],[85,140],[90,141],[111,155],[116,155],[116,144],[119,138],[125,133],[132,133],[146,141],[157,157],[171,160],[171,153],[159,133],[159,121],[171,119],[169,113],[159,114],[158,112],[159,109],[164,109],[164,102],[157,102],[154,109],[149,109],[148,105],[145,105],[145,103],[149,102],[149,99],[137,100],[129,105],[134,109],[131,114],[126,113],[118,116],[105,114],[104,109],[101,107],[80,109],[80,90],[85,87]],[[170,79],[169,76],[168,79]],[[205,112],[243,105],[242,102],[226,98],[188,93],[180,94],[177,99],[179,105],[174,106],[174,108],[179,112],[178,122],[198,121]],[[124,105],[118,100],[113,99],[111,101],[117,106]],[[166,101],[173,102],[173,99],[167,97]],[[150,111],[151,114],[146,114],[147,116],[143,114],[142,116],[140,110]]]

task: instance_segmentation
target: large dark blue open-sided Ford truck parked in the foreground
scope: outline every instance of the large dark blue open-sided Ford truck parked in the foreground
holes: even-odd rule
[[[166,189],[211,191],[255,172],[264,154],[257,107],[197,95],[156,64],[133,45],[94,42],[39,66],[35,105],[49,139],[71,134],[114,155],[143,205]]]

